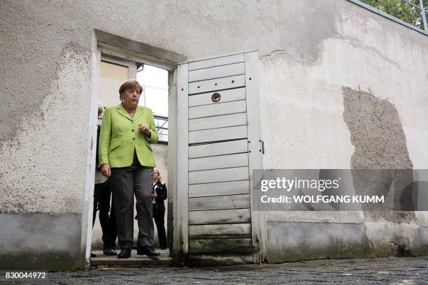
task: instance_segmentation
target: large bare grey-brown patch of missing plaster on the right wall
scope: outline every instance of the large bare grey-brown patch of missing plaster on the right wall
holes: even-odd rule
[[[382,177],[374,172],[371,179],[364,173],[364,180],[354,176],[355,181],[364,181],[363,184],[354,185],[357,193],[390,195],[390,201],[386,198],[385,204],[401,205],[404,210],[412,208],[407,205],[407,199],[406,205],[402,205],[404,197],[408,195],[404,191],[413,182],[413,163],[408,155],[406,136],[397,109],[385,99],[350,87],[343,87],[343,105],[343,119],[348,124],[351,142],[355,146],[350,167],[385,169],[389,172],[389,175]],[[352,175],[359,174],[356,171]],[[415,219],[413,212],[390,212],[381,206],[370,210],[366,212],[366,217],[371,219],[386,219],[396,223]]]

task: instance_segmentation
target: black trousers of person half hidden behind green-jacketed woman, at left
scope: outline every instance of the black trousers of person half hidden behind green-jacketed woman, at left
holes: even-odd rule
[[[110,196],[111,189],[108,182],[95,184],[92,227],[94,227],[98,210],[99,224],[101,224],[101,230],[103,231],[104,248],[114,248],[116,246],[116,217],[113,205],[110,211]]]

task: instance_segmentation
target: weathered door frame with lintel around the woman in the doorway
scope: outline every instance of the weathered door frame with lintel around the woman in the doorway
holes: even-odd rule
[[[92,33],[92,74],[90,92],[89,128],[87,131],[87,153],[85,160],[85,194],[83,201],[83,219],[80,252],[85,256],[85,267],[90,266],[90,250],[92,245],[92,212],[94,206],[94,174],[95,174],[95,152],[97,145],[97,108],[99,96],[99,76],[101,65],[101,52],[110,54],[120,59],[141,62],[166,69],[169,73],[168,94],[168,233],[169,241],[173,238],[173,199],[176,197],[176,142],[177,142],[177,74],[178,62],[187,59],[183,54],[164,50],[159,47],[147,45],[127,38],[122,38],[105,31],[94,30]],[[175,249],[174,249],[175,250]],[[171,256],[174,256],[170,249]]]

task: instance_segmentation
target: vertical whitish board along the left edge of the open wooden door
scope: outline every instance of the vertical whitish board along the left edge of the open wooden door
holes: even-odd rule
[[[188,65],[178,66],[178,115],[177,115],[177,196],[174,197],[173,253],[176,263],[184,264],[189,252],[189,97]]]

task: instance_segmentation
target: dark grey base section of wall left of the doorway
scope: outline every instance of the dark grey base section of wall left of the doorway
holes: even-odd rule
[[[81,214],[0,214],[0,270],[83,267],[81,219]]]

